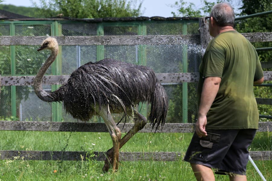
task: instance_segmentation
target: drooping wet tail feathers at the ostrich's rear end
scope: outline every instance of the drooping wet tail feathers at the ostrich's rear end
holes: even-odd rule
[[[149,120],[152,124],[152,130],[155,127],[155,131],[159,128],[161,124],[161,129],[164,126],[166,115],[168,109],[168,98],[167,94],[164,90],[164,87],[160,84],[160,82],[156,81],[156,86],[154,88],[154,93],[151,97],[151,111],[149,114]]]

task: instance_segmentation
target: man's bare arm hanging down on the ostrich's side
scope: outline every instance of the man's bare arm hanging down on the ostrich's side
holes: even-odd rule
[[[198,119],[196,121],[196,134],[199,137],[207,136],[205,126],[207,124],[207,113],[212,106],[212,102],[219,90],[220,77],[206,77],[201,92]]]

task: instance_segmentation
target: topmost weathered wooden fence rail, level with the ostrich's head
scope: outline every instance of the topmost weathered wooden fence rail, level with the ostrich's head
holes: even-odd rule
[[[272,32],[242,33],[251,42],[272,41]],[[59,45],[200,44],[199,35],[52,36]],[[0,45],[40,45],[46,36],[0,36]]]

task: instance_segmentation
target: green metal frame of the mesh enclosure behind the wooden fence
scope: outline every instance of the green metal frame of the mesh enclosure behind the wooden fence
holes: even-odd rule
[[[104,35],[104,27],[105,26],[137,26],[138,27],[138,35],[147,35],[147,24],[151,23],[159,23],[159,22],[167,22],[167,23],[180,23],[182,24],[182,32],[183,34],[187,34],[187,24],[188,23],[198,23],[198,20],[178,20],[178,21],[132,21],[132,22],[100,22],[97,24],[97,35]],[[60,36],[62,34],[62,24],[69,23],[84,23],[82,21],[69,21],[69,20],[27,20],[27,21],[1,21],[0,24],[9,24],[10,25],[10,36],[15,36],[15,26],[16,25],[37,25],[37,24],[50,24],[51,26],[51,36]],[[61,46],[57,59],[52,64],[52,75],[62,75],[62,60],[61,60]],[[146,65],[146,45],[139,45],[138,48],[138,63],[141,65]],[[16,74],[15,69],[15,46],[10,46],[10,56],[11,56],[11,76],[20,76]],[[188,59],[187,59],[187,46],[183,47],[183,73],[187,73],[188,71]],[[104,46],[97,45],[97,60],[102,60],[104,58]],[[8,75],[2,75],[8,76]],[[52,91],[56,90],[59,85],[52,85]],[[188,122],[188,83],[184,82],[182,86],[183,91],[183,123]],[[139,109],[141,107],[145,107],[146,105],[140,104]],[[52,121],[61,121],[62,120],[62,106],[60,103],[52,104]],[[17,117],[16,114],[16,86],[11,86],[11,114],[13,117]]]

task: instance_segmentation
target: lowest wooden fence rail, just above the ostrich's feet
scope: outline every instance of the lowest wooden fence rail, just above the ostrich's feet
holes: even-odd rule
[[[104,161],[105,152],[94,152],[91,159]],[[271,160],[272,151],[250,151],[253,160]],[[88,157],[84,151],[21,151],[0,150],[0,160],[24,157],[24,160],[71,160],[81,161],[81,156]],[[120,152],[120,161],[177,161],[183,159],[185,152]]]

